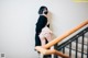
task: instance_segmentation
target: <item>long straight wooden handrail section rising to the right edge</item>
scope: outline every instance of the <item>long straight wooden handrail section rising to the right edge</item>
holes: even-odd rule
[[[48,44],[46,44],[44,46],[44,48],[50,48],[52,46],[54,46],[55,44],[59,43],[61,40],[63,40],[64,38],[66,38],[67,36],[69,36],[70,34],[75,33],[76,31],[78,31],[79,28],[84,27],[85,25],[88,24],[88,20],[82,22],[81,24],[77,25],[76,27],[74,27],[73,30],[64,33],[62,36],[53,39],[52,42],[50,42]]]

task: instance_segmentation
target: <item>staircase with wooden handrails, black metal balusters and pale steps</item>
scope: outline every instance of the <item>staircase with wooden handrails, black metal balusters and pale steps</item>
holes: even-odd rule
[[[82,31],[79,31],[84,26],[86,27]],[[66,39],[77,31],[79,31],[77,34]],[[65,42],[61,44],[64,39]],[[48,49],[52,46],[55,46],[55,48],[52,50]],[[42,55],[53,54],[53,58],[88,58],[88,20],[51,40],[45,46],[36,46],[35,49]]]

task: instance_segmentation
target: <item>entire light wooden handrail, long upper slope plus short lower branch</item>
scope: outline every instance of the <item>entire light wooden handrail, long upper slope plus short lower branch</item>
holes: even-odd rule
[[[59,36],[59,37],[55,38],[54,40],[50,42],[48,44],[44,45],[43,47],[36,46],[35,49],[37,51],[40,51],[41,54],[43,54],[43,55],[55,54],[55,55],[61,56],[61,57],[64,57],[64,58],[69,58],[68,56],[66,56],[65,54],[62,54],[61,51],[57,51],[55,49],[50,50],[47,48],[50,48],[50,47],[54,46],[55,44],[59,43],[61,40],[65,39],[67,36],[69,36],[70,34],[75,33],[76,31],[78,31],[79,28],[84,27],[87,24],[88,24],[88,20],[85,21],[85,22],[82,22],[81,24],[77,25],[73,30],[66,32],[62,36]]]

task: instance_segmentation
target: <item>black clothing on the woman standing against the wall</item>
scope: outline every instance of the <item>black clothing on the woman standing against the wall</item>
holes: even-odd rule
[[[47,18],[44,15],[40,15],[37,23],[36,23],[36,27],[35,27],[35,46],[41,46],[41,40],[40,40],[40,33],[42,31],[42,28],[47,24]],[[47,25],[50,27],[50,24]],[[47,40],[46,40],[47,43]]]

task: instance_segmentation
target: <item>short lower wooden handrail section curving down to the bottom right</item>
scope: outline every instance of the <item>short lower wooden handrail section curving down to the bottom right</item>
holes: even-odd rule
[[[55,49],[45,49],[45,48],[43,48],[41,46],[36,46],[35,49],[38,50],[43,55],[52,55],[52,54],[54,54],[54,55],[61,56],[63,58],[69,58],[67,55],[65,55],[65,54],[63,54],[63,53],[61,53],[58,50],[55,50]]]

